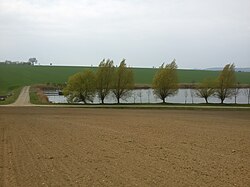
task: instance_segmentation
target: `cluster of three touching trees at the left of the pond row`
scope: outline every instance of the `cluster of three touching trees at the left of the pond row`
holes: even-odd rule
[[[119,67],[115,68],[112,60],[100,62],[97,71],[85,70],[71,76],[64,94],[69,102],[93,102],[97,93],[102,104],[105,97],[112,92],[120,103],[121,98],[126,98],[134,88],[133,71],[127,67],[123,59]]]

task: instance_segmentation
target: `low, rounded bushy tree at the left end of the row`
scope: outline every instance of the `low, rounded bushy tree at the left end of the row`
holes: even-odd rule
[[[69,77],[64,95],[69,102],[93,102],[95,97],[95,74],[90,70],[76,73]]]

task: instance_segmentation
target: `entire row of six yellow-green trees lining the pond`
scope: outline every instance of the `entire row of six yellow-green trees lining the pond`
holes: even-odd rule
[[[204,98],[208,103],[208,98],[215,96],[224,102],[226,98],[235,95],[236,76],[234,64],[227,64],[219,74],[218,78],[207,78],[195,86],[196,95]],[[173,60],[169,64],[162,64],[156,72],[152,88],[154,94],[160,98],[163,103],[166,98],[178,93],[177,64]],[[120,62],[119,67],[115,67],[112,60],[103,60],[100,62],[97,71],[91,70],[77,73],[71,76],[64,94],[70,102],[93,102],[97,93],[101,103],[104,103],[105,97],[113,93],[120,103],[121,98],[130,96],[130,91],[134,89],[134,75],[132,69],[128,68],[125,59]]]

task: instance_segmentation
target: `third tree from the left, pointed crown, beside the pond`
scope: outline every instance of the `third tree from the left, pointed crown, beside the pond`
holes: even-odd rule
[[[123,59],[118,68],[115,69],[112,92],[120,103],[120,99],[126,99],[134,88],[134,75],[132,69],[128,68]]]

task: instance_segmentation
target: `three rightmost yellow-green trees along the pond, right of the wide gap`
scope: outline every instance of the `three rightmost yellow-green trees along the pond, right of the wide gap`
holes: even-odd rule
[[[154,94],[159,97],[163,103],[168,96],[173,96],[178,92],[177,65],[175,60],[170,63],[162,64],[153,80]],[[235,66],[227,64],[216,79],[206,78],[203,82],[195,86],[196,95],[204,98],[208,103],[208,98],[215,96],[223,104],[226,98],[235,96],[239,91],[236,84]]]

